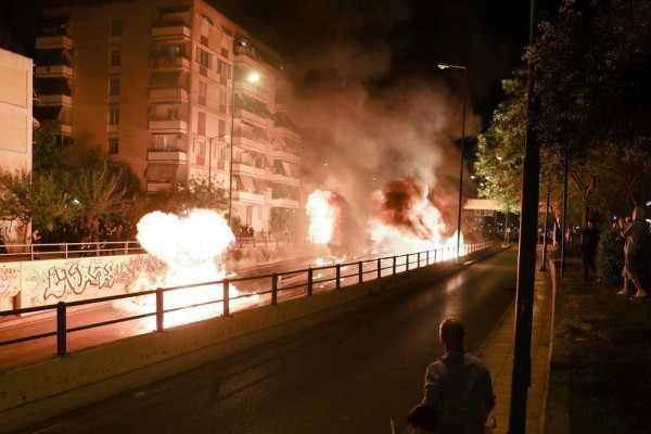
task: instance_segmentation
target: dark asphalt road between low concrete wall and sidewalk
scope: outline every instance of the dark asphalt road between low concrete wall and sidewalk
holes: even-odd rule
[[[422,397],[438,323],[476,348],[514,299],[516,252],[372,309],[111,398],[21,433],[390,433]]]

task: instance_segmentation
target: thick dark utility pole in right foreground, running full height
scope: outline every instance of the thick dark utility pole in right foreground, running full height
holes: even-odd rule
[[[529,47],[535,41],[536,0],[531,2]],[[532,380],[532,324],[534,312],[534,283],[536,278],[536,243],[538,238],[538,197],[540,150],[534,133],[533,66],[528,65],[526,89],[527,118],[522,175],[522,212],[520,215],[520,250],[518,254],[518,282],[515,294],[515,337],[513,345],[513,374],[509,434],[524,434],[526,424],[527,390]]]

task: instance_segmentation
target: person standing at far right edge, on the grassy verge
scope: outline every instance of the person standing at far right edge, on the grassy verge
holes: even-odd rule
[[[622,237],[626,240],[624,244],[624,288],[617,292],[620,295],[628,295],[628,281],[633,281],[637,292],[634,297],[639,298],[647,295],[640,283],[640,271],[643,266],[642,245],[649,238],[649,224],[644,220],[644,208],[636,206],[633,209],[633,221],[622,232]]]

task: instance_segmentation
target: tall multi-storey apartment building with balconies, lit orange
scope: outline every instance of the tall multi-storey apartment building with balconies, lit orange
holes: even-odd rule
[[[101,146],[151,193],[192,178],[230,191],[232,180],[233,216],[256,230],[273,208],[301,207],[282,61],[206,2],[50,8],[36,49],[36,114],[60,123],[73,162]]]

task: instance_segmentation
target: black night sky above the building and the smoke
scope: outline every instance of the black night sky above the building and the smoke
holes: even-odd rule
[[[3,0],[0,22],[31,54],[34,27],[48,0]],[[89,1],[90,2],[90,1]],[[305,60],[333,43],[382,53],[387,62],[369,82],[441,76],[460,88],[468,67],[469,95],[484,124],[501,98],[500,80],[521,63],[528,40],[529,3],[522,0],[208,0],[289,60]],[[553,2],[553,1],[552,1]],[[548,2],[539,1],[539,10]],[[556,2],[553,2],[556,3]]]

